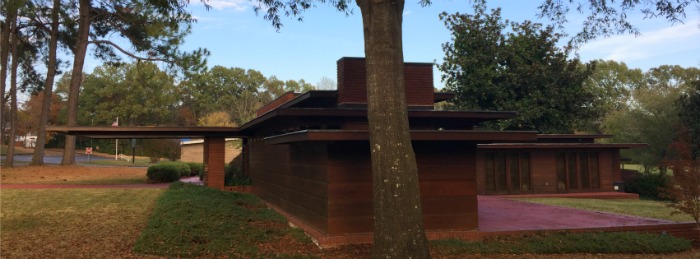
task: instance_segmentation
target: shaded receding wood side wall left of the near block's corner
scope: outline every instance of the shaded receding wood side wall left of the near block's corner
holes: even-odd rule
[[[249,143],[253,193],[318,231],[327,232],[325,144],[266,145],[259,139]]]

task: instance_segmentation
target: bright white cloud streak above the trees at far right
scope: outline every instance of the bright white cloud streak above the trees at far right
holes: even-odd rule
[[[580,50],[583,59],[606,59],[634,62],[657,59],[668,55],[700,54],[700,19],[688,20],[641,36],[619,35],[586,44]]]

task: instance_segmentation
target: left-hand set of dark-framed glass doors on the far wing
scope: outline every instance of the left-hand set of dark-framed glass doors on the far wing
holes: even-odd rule
[[[490,193],[530,191],[530,154],[494,152],[485,154],[486,189]]]

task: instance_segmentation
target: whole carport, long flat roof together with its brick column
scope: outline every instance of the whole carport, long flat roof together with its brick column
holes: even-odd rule
[[[109,139],[204,139],[204,184],[224,189],[225,139],[244,138],[238,127],[67,127],[49,126],[46,131],[88,138]],[[241,155],[247,156],[245,139]]]

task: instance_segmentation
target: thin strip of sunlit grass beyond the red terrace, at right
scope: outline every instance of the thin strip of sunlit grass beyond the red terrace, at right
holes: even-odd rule
[[[574,198],[518,198],[515,200],[532,203],[596,210],[614,214],[632,215],[643,218],[664,219],[675,222],[693,221],[685,214],[671,214],[668,202],[632,199],[574,199]]]

